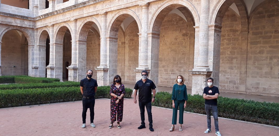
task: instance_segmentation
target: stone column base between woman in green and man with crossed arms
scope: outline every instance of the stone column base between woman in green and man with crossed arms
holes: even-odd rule
[[[203,95],[203,89],[207,86],[206,78],[209,78],[212,71],[201,71],[200,69],[189,70],[193,75],[192,77],[192,95],[199,94]]]

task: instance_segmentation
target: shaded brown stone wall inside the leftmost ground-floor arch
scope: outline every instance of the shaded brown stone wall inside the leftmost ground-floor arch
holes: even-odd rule
[[[25,61],[27,61],[27,64]],[[28,46],[21,44],[20,32],[9,30],[2,38],[1,65],[3,66],[1,67],[1,74],[24,75],[27,70],[25,64],[28,68]],[[13,68],[13,66],[16,67]]]

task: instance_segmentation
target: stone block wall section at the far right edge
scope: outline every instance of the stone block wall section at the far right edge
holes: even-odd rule
[[[279,96],[278,1],[262,5],[249,25],[246,91]]]

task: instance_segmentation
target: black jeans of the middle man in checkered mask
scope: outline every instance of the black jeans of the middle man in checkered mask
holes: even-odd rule
[[[139,102],[140,106],[140,117],[141,117],[141,125],[145,125],[145,117],[144,117],[144,112],[146,107],[147,115],[148,115],[148,121],[149,121],[149,126],[153,126],[152,123],[152,113],[151,113],[151,102]]]

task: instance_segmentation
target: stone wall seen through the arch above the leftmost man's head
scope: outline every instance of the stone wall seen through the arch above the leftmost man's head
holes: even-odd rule
[[[100,66],[100,36],[93,27],[88,30],[86,38],[86,71],[92,70],[92,78],[97,79],[97,66]],[[84,73],[85,75],[85,73]]]

